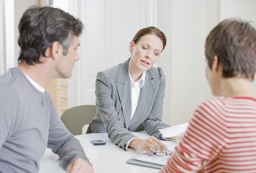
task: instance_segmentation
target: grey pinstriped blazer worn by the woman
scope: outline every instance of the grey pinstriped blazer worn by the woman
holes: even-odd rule
[[[158,129],[169,127],[161,121],[165,93],[165,76],[161,67],[151,67],[146,71],[139,103],[131,119],[128,63],[129,59],[98,72],[95,83],[97,112],[86,132],[108,132],[111,141],[123,148],[129,139],[136,137],[129,131],[146,130],[148,134],[160,138]]]

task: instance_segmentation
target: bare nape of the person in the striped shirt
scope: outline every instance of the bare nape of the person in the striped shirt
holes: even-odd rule
[[[222,78],[221,91],[224,97],[256,98],[256,90],[252,86],[252,80],[248,78]]]

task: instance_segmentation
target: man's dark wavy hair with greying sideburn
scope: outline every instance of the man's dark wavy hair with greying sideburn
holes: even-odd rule
[[[82,33],[83,24],[79,19],[69,15],[61,9],[52,7],[33,6],[27,9],[19,23],[20,55],[18,62],[27,64],[40,63],[40,55],[53,42],[59,42],[63,47],[63,54],[67,54],[72,35]]]

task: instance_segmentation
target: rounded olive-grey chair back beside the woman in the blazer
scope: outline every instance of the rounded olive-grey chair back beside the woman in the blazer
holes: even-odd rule
[[[79,135],[83,126],[91,123],[95,113],[95,105],[75,106],[65,110],[60,119],[73,135]]]

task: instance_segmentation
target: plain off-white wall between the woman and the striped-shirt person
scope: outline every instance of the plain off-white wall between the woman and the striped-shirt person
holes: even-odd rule
[[[188,122],[196,106],[212,98],[204,75],[204,42],[219,22],[219,1],[158,1],[157,25],[167,36],[158,66],[166,76],[163,121]]]

